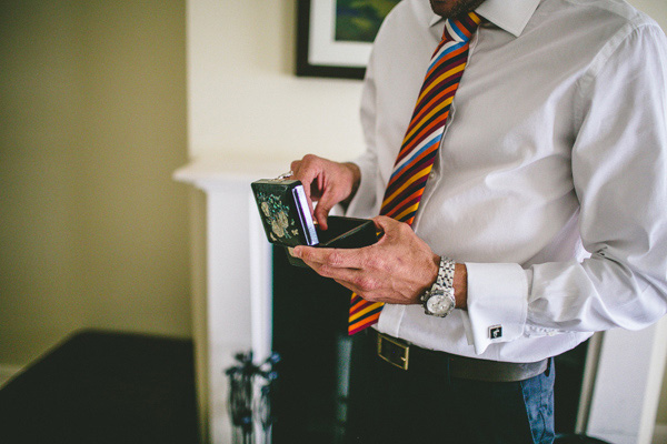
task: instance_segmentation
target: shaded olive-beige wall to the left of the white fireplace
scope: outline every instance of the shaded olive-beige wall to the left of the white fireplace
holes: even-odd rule
[[[189,336],[185,1],[0,2],[0,365]]]

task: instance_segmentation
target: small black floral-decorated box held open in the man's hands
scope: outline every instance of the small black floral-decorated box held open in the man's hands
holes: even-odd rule
[[[269,242],[293,248],[310,245],[358,249],[377,242],[376,226],[368,219],[330,215],[328,230],[312,220],[303,185],[298,180],[262,179],[251,183],[259,215]],[[303,262],[287,254],[292,265]]]

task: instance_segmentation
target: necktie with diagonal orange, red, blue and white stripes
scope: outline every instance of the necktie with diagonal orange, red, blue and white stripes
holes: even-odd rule
[[[470,38],[481,22],[475,12],[445,22],[442,40],[431,57],[412,119],[389,178],[380,214],[412,225],[415,214],[436,160],[454,94],[468,61]],[[382,302],[352,294],[348,333],[378,322]]]

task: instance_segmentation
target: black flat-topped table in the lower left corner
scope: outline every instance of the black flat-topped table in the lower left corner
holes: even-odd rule
[[[0,390],[0,443],[198,443],[189,340],[81,331]]]

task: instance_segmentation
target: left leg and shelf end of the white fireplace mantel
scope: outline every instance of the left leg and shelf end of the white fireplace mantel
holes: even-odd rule
[[[192,161],[173,178],[202,190],[205,209],[192,213],[203,228],[203,261],[195,261],[195,311],[202,325],[195,325],[198,356],[198,394],[203,441],[230,443],[225,370],[239,352],[253,352],[256,363],[271,351],[271,249],[266,240],[250,183],[273,178],[282,163],[229,162],[219,159]],[[200,230],[193,230],[200,231]],[[193,239],[195,244],[201,241]],[[201,255],[201,248],[193,248]],[[202,270],[197,270],[197,268]],[[197,294],[197,293],[203,294]],[[195,319],[197,319],[197,314]],[[202,402],[203,401],[203,402]]]

